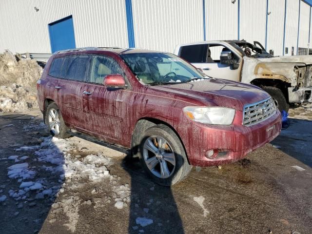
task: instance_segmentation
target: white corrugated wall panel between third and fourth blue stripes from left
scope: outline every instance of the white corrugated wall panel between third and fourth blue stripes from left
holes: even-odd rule
[[[265,44],[266,0],[240,0],[239,39]]]

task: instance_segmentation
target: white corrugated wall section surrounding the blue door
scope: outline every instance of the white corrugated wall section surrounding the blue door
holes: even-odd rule
[[[0,51],[51,53],[48,24],[70,15],[77,47],[128,46],[124,0],[1,0]]]

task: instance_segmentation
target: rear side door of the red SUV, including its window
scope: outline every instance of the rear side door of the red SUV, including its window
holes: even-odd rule
[[[59,79],[60,109],[65,123],[80,130],[85,129],[82,93],[85,89],[85,77],[89,71],[89,55],[64,57],[62,70],[65,75]]]

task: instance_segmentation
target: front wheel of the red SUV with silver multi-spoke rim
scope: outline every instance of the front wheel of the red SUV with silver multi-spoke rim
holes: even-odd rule
[[[163,147],[158,147],[158,142]],[[162,186],[182,181],[192,169],[180,139],[163,124],[145,130],[138,156],[146,173]]]

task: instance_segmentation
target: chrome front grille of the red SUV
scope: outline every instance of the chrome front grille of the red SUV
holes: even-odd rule
[[[276,112],[272,98],[244,106],[243,125],[250,126],[259,123]]]

